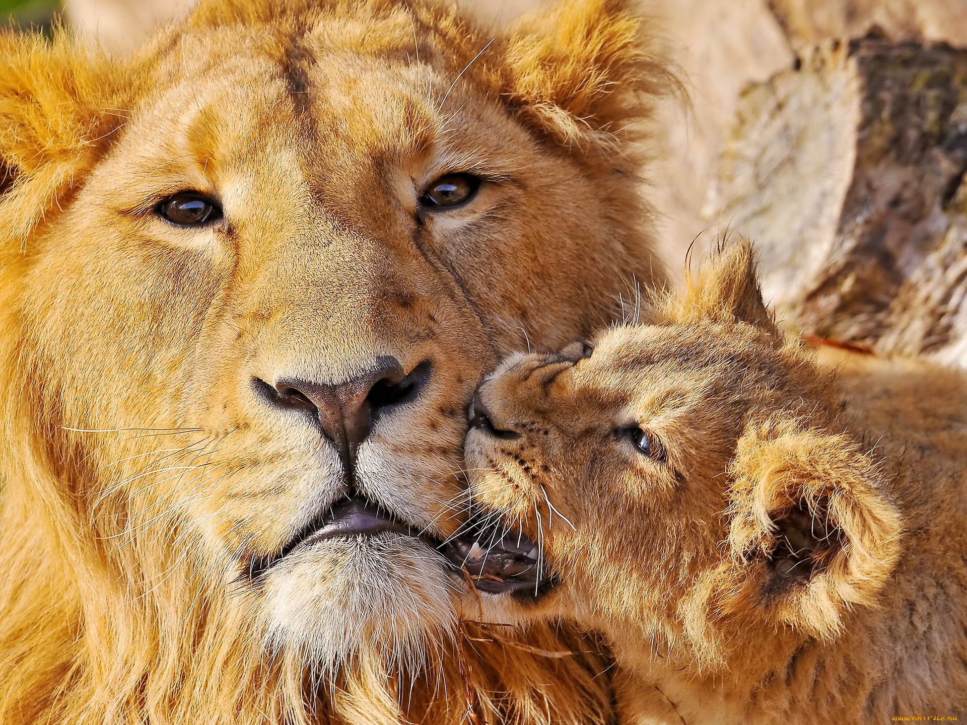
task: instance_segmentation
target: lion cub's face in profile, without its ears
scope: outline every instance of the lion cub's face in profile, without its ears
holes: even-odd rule
[[[560,584],[536,604],[503,594],[484,531],[466,565],[484,574],[486,614],[671,616],[674,593],[721,559],[730,459],[781,369],[761,331],[713,322],[619,327],[504,362],[471,409],[471,488],[480,520],[537,543],[539,586]]]

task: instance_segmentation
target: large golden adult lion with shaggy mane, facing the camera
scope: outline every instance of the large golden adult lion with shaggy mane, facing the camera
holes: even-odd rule
[[[0,36],[0,721],[608,716],[591,643],[458,626],[436,547],[482,374],[661,281],[639,25],[211,0],[125,60]]]

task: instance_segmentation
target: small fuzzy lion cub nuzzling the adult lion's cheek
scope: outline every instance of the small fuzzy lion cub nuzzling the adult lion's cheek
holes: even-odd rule
[[[478,392],[480,520],[538,542],[538,587],[559,580],[481,587],[484,616],[603,631],[625,722],[967,714],[964,377],[814,360],[747,245],[656,319],[516,356]]]

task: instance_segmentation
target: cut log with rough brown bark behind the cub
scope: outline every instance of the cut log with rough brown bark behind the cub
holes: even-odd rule
[[[706,213],[806,333],[967,365],[967,50],[825,43],[747,88]]]

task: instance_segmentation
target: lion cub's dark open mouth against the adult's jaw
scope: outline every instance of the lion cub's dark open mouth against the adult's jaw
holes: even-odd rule
[[[479,515],[471,518],[467,533],[451,538],[440,551],[486,594],[533,600],[559,582],[536,543],[502,525],[484,524]]]

